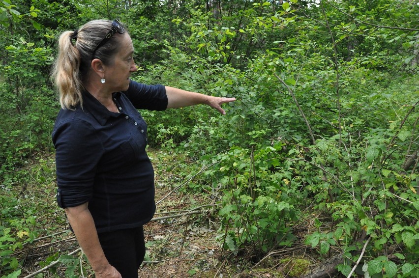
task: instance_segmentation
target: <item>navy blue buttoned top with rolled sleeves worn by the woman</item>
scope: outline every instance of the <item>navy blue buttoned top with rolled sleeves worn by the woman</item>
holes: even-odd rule
[[[137,109],[165,110],[165,87],[131,81],[113,98],[120,113],[84,92],[83,109],[61,109],[52,133],[58,204],[89,202],[97,232],[141,226],[155,212],[147,125]]]

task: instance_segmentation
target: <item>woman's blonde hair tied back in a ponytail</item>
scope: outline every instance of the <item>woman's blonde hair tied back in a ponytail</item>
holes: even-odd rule
[[[79,103],[83,107],[83,83],[93,58],[99,58],[105,65],[113,63],[119,46],[119,40],[115,38],[117,36],[99,47],[93,57],[94,49],[111,27],[110,20],[92,20],[78,30],[64,31],[60,35],[52,79],[58,89],[62,109],[74,110]]]

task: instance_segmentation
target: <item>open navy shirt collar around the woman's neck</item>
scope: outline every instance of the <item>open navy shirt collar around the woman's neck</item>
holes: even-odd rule
[[[120,92],[113,93],[112,98],[120,99]],[[109,118],[118,117],[120,114],[109,111],[87,90],[83,91],[83,110],[87,113],[91,113],[102,126],[106,124]]]

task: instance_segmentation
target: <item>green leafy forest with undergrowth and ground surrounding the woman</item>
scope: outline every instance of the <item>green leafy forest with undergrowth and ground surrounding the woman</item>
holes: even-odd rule
[[[132,79],[235,97],[140,111],[139,277],[419,277],[418,0],[1,0],[0,277],[94,277],[56,202],[57,41],[119,19]]]

